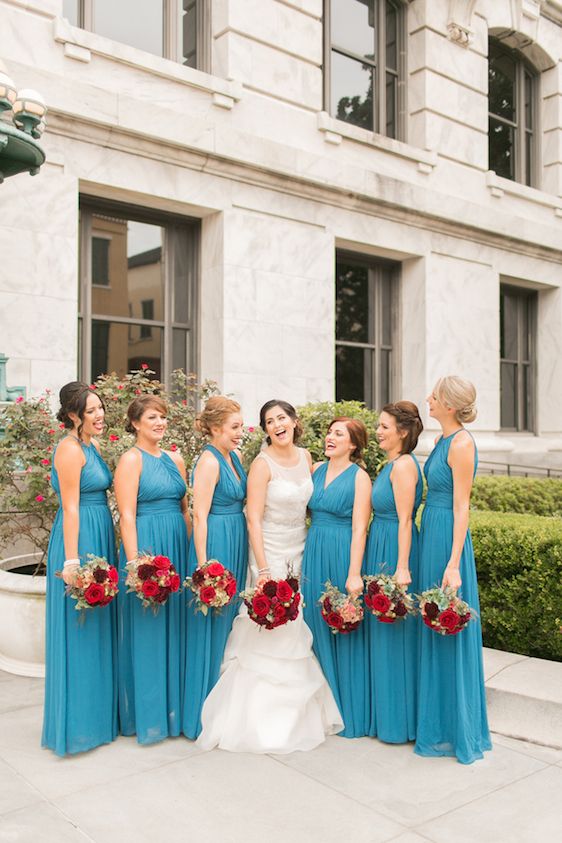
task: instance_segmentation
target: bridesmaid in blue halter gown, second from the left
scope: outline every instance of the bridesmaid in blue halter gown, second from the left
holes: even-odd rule
[[[119,593],[119,720],[124,735],[141,744],[181,730],[185,641],[182,598],[172,595],[154,615],[127,594],[124,566],[140,553],[167,556],[183,580],[191,522],[185,466],[178,451],[160,448],[168,408],[157,395],[139,395],[127,409],[126,429],[136,444],[115,472],[122,584]]]

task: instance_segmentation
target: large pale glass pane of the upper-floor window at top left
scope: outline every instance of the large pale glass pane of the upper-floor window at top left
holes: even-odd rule
[[[95,0],[94,32],[130,44],[157,56],[163,54],[164,3],[162,0]]]

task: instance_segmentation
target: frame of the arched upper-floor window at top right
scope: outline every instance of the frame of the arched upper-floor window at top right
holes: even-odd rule
[[[540,151],[540,127],[539,127],[539,98],[540,98],[540,73],[535,67],[523,56],[518,50],[502,44],[500,40],[494,37],[488,39],[488,65],[490,63],[491,47],[499,53],[508,56],[515,64],[515,118],[516,121],[508,120],[499,114],[494,114],[490,111],[490,86],[488,83],[488,168],[490,168],[490,121],[495,120],[504,126],[513,129],[514,133],[514,176],[504,176],[497,173],[500,178],[507,178],[518,184],[527,187],[539,186],[539,151]],[[532,129],[527,129],[525,120],[525,81],[526,78],[531,81],[531,125]],[[528,165],[529,181],[527,181],[527,135],[531,136],[531,161]],[[495,171],[494,171],[495,172]]]

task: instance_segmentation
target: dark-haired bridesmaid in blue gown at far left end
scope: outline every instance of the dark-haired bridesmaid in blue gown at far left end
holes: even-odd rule
[[[95,391],[73,381],[60,391],[57,418],[67,436],[53,458],[59,498],[47,556],[47,647],[41,743],[57,755],[84,752],[117,736],[117,640],[114,604],[80,619],[67,598],[86,554],[115,565],[115,534],[107,505],[111,472],[94,436],[104,407]],[[55,576],[62,569],[62,579]],[[63,582],[64,580],[64,582]]]

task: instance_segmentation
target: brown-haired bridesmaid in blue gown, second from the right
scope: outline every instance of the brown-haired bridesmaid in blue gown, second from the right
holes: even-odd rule
[[[365,574],[394,574],[399,585],[417,591],[418,530],[416,512],[423,480],[412,451],[423,430],[411,401],[383,407],[377,438],[388,462],[373,486],[375,517],[369,531]],[[416,737],[416,673],[418,623],[407,618],[380,623],[366,613],[367,676],[370,676],[371,718],[368,734],[387,743]]]

